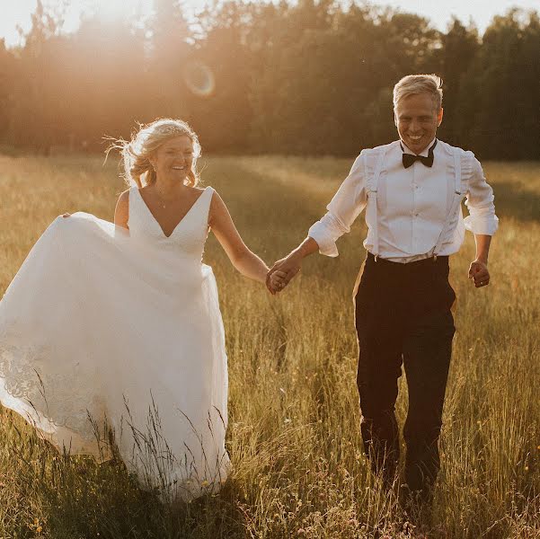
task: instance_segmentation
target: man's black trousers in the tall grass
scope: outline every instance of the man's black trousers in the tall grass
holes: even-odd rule
[[[372,469],[386,484],[399,461],[394,406],[402,364],[409,410],[403,428],[405,482],[429,496],[439,469],[438,437],[454,337],[448,257],[402,264],[367,253],[355,296],[361,432]]]

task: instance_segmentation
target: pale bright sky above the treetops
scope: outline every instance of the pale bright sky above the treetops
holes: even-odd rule
[[[198,10],[206,0],[184,0],[186,5]],[[62,5],[62,0],[43,0],[51,6]],[[120,14],[152,13],[153,0],[68,0],[70,4],[65,16],[65,30],[75,31],[80,13],[95,10],[104,18]],[[452,15],[462,22],[474,21],[482,32],[497,14],[506,13],[510,7],[540,11],[540,0],[378,0],[372,4],[390,5],[401,11],[418,13],[433,22],[439,30],[445,30]],[[36,0],[0,0],[0,39],[4,38],[8,47],[21,42],[17,25],[28,31],[31,24],[30,15],[36,7]]]

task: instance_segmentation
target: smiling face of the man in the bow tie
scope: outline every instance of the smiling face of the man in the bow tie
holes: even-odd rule
[[[437,110],[429,93],[414,93],[397,103],[394,110],[395,126],[407,147],[420,154],[435,138],[442,114],[442,108]]]

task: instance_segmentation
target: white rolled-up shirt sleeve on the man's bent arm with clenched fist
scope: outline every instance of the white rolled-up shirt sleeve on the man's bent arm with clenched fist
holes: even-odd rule
[[[483,175],[482,165],[474,155],[471,158],[471,176],[465,200],[469,215],[464,219],[465,228],[473,234],[493,235],[499,226],[499,218],[495,215],[493,190]]]

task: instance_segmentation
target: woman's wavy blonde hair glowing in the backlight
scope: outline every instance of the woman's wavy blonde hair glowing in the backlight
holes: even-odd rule
[[[115,140],[109,148],[109,151],[112,148],[120,150],[124,169],[122,175],[128,185],[137,185],[142,188],[144,185],[155,183],[156,173],[152,163],[150,163],[150,157],[167,140],[175,137],[188,137],[193,145],[193,162],[185,182],[187,185],[195,187],[199,183],[197,159],[200,156],[200,144],[197,134],[188,123],[181,119],[160,118],[139,127],[129,142],[120,138]]]

